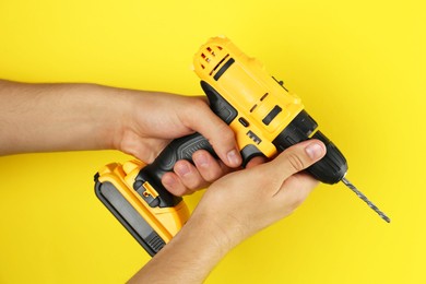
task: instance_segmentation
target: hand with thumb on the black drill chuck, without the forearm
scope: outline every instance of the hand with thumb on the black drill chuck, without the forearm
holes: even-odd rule
[[[232,248],[301,204],[318,184],[301,170],[324,154],[321,141],[309,140],[269,163],[232,173],[206,190],[193,217],[209,220],[222,235],[217,239]]]

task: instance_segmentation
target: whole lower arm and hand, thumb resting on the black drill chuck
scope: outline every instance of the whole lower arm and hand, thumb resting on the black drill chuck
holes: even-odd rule
[[[218,179],[182,229],[130,282],[202,283],[230,249],[300,205],[318,184],[303,169],[324,154],[322,142],[310,140]]]

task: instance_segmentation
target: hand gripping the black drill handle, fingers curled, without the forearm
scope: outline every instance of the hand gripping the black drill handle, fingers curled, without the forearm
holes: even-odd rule
[[[204,98],[127,93],[133,107],[123,114],[122,134],[117,138],[117,149],[152,163],[173,139],[199,132],[220,157],[215,159],[206,151],[198,151],[192,156],[196,166],[187,161],[176,163],[175,173],[163,177],[164,186],[175,196],[204,188],[240,165],[234,132],[213,114]]]

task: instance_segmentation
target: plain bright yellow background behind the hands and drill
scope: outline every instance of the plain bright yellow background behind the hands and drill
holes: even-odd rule
[[[206,282],[426,283],[425,14],[421,0],[2,0],[0,78],[196,95],[192,55],[225,34],[301,96],[392,223],[321,185]],[[93,190],[100,166],[128,158],[1,157],[0,283],[120,283],[149,261]]]

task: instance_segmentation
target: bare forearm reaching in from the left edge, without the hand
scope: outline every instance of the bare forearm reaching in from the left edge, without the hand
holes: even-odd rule
[[[121,95],[94,84],[0,81],[0,155],[114,149]]]

